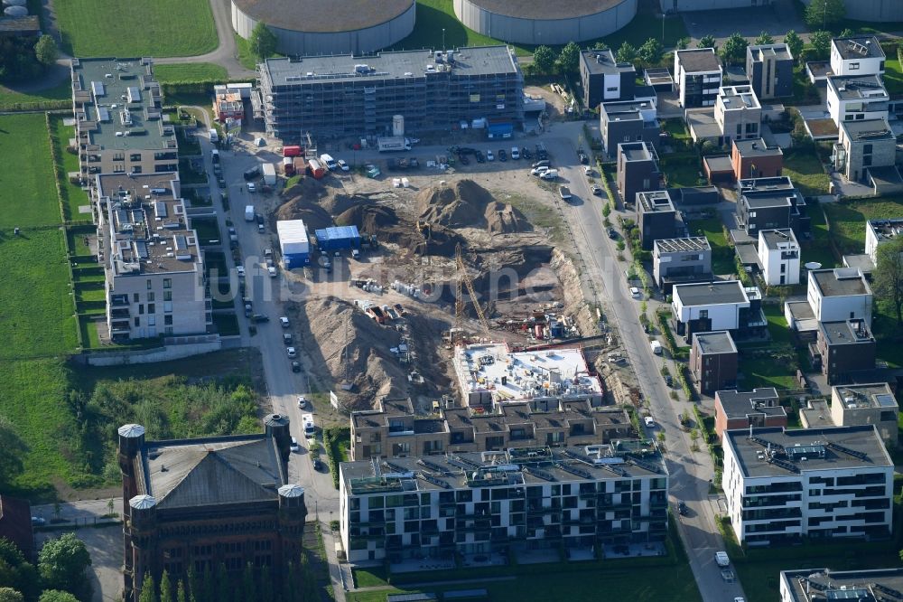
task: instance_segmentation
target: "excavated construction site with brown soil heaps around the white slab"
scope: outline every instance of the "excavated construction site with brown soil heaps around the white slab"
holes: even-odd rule
[[[511,352],[566,346],[596,383],[592,394],[606,398],[617,340],[584,299],[573,243],[555,230],[552,189],[510,172],[405,179],[308,177],[272,199],[275,221],[356,226],[362,241],[354,258],[313,252],[308,268],[285,272],[303,290],[287,312],[312,385],[335,390],[346,411],[409,397],[429,413],[462,392],[455,347],[499,343]],[[560,380],[573,381],[567,372]]]

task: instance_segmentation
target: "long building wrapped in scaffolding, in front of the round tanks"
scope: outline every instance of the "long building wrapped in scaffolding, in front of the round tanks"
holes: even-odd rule
[[[257,76],[257,116],[285,142],[300,142],[308,132],[390,135],[396,115],[414,135],[449,132],[474,119],[513,127],[524,121],[524,78],[507,46],[267,59]]]

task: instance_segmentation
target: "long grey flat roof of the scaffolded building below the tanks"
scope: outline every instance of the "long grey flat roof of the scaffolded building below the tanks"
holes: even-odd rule
[[[365,57],[333,54],[267,59],[261,69],[274,86],[321,84],[323,80],[367,82],[423,78],[437,73],[448,73],[451,77],[476,77],[519,72],[507,46],[459,48],[455,51],[454,68],[450,71],[440,71],[447,69],[447,63],[436,63],[434,59],[435,55],[429,50],[377,52]],[[427,66],[432,66],[433,71],[428,70]]]

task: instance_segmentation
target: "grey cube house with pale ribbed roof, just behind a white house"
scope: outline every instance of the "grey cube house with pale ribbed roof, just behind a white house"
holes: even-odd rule
[[[652,276],[670,295],[675,284],[712,280],[712,246],[704,236],[657,239],[652,245]]]

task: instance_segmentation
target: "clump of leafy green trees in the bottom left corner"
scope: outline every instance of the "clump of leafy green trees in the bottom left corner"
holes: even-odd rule
[[[91,557],[75,533],[45,541],[38,566],[12,541],[0,538],[0,602],[77,602],[91,599],[85,570]]]

